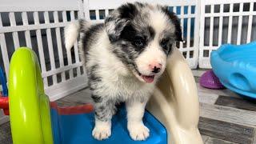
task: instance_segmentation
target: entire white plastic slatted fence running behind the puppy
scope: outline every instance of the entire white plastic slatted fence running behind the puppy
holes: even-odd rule
[[[51,100],[86,87],[78,44],[66,52],[63,28],[78,18],[103,22],[111,10],[134,0],[1,0],[0,66],[8,75],[10,57],[19,46],[31,47],[41,64],[46,94]],[[184,42],[177,44],[190,67],[210,68],[210,52],[231,42],[256,39],[254,0],[144,0],[170,6],[181,19]]]

